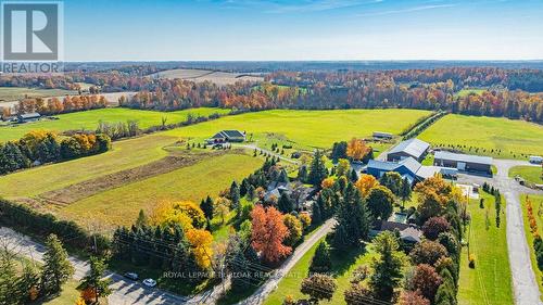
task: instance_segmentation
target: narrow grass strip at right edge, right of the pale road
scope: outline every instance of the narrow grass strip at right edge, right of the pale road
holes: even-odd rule
[[[535,216],[535,220],[538,221],[538,230],[541,234],[543,228],[543,214],[540,214],[540,211],[543,211],[543,195],[530,195],[530,201],[532,202],[533,215]],[[533,234],[530,230],[530,221],[528,220],[528,208],[526,206],[526,195],[522,195],[520,199],[522,204],[522,217],[525,223],[525,234],[528,241],[528,249],[530,249],[530,259],[532,260],[532,269],[535,274],[535,280],[538,281],[538,287],[540,288],[541,295],[543,297],[543,272],[538,268],[538,260],[535,260],[535,252],[533,251]]]

